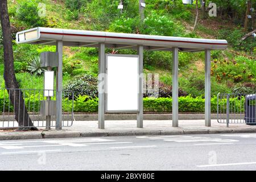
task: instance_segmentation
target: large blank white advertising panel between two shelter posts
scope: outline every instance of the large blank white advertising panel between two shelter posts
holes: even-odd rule
[[[139,56],[106,55],[106,111],[138,111]]]

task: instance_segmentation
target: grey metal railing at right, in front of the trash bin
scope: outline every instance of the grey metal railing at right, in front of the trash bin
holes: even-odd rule
[[[226,123],[256,124],[256,94],[218,93],[217,121]]]

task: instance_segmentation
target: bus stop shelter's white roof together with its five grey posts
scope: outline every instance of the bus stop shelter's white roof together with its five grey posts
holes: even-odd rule
[[[143,73],[143,50],[172,51],[172,126],[178,127],[178,53],[205,52],[205,126],[210,126],[210,51],[228,47],[226,40],[181,38],[141,34],[123,34],[114,32],[67,30],[60,28],[36,27],[16,34],[18,44],[39,44],[56,46],[58,67],[56,71],[56,129],[62,123],[62,90],[63,90],[63,46],[98,48],[98,72],[106,73],[105,48],[135,49],[139,55],[139,73]],[[99,81],[104,80],[100,76]],[[137,127],[143,127],[143,80],[139,78],[139,97]],[[105,127],[105,88],[98,86],[98,128]]]

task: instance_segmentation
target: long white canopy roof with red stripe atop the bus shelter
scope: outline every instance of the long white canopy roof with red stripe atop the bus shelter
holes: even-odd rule
[[[156,36],[142,34],[123,34],[100,31],[68,30],[61,28],[36,27],[16,34],[17,43],[56,45],[63,41],[63,46],[98,47],[105,43],[106,48],[136,49],[141,45],[146,50],[171,51],[179,47],[180,51],[203,51],[204,49],[225,49],[226,40],[182,38],[174,36]]]

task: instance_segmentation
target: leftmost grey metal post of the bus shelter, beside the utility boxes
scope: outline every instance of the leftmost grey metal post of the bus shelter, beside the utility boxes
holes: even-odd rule
[[[57,67],[57,90],[56,90],[56,130],[61,130],[62,127],[62,56],[63,56],[63,42],[57,41],[57,50],[59,53],[58,67]]]

